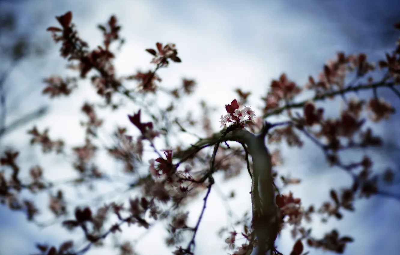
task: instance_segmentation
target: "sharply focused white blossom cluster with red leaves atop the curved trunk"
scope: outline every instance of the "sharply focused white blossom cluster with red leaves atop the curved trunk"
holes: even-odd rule
[[[240,124],[241,128],[248,127],[248,125],[245,124],[246,121],[251,121],[254,123],[254,117],[256,116],[256,114],[254,114],[254,111],[247,106],[244,106],[242,110],[239,110],[239,104],[236,99],[234,99],[230,104],[226,104],[225,109],[228,114],[226,114],[225,116],[221,115],[220,128],[222,128],[229,122]],[[244,119],[246,118],[246,116],[248,117],[247,120]]]

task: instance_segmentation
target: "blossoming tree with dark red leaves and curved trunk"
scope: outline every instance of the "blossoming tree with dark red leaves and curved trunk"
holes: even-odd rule
[[[2,203],[11,210],[26,212],[28,221],[36,222],[39,208],[33,200],[25,199],[21,192],[29,190],[36,194],[50,191],[48,208],[54,218],[62,219],[62,226],[67,229],[81,230],[85,242],[83,246],[68,240],[58,247],[38,244],[39,254],[84,254],[121,231],[123,224],[149,228],[157,221],[163,221],[168,226],[166,243],[173,247],[173,254],[194,254],[196,239],[199,238],[196,234],[215,183],[214,176],[218,172],[230,178],[247,171],[252,181],[249,195],[251,216],[243,217],[232,231],[222,231],[222,235],[225,235],[223,239],[234,255],[282,254],[275,240],[285,229],[292,231],[294,239],[290,255],[305,255],[312,248],[343,253],[346,244],[353,241],[352,237],[340,235],[337,229],[328,230],[322,237],[314,236],[304,223],[317,214],[323,215],[325,221],[329,217],[341,219],[342,211],[354,210],[354,202],[358,197],[396,196],[382,189],[382,185],[389,185],[393,181],[392,170],[387,169],[383,174],[374,173],[369,157],[346,162],[341,159],[340,152],[382,145],[382,139],[366,126],[370,122],[388,119],[395,111],[388,102],[378,97],[378,90],[389,88],[400,98],[396,88],[400,85],[400,40],[395,50],[378,62],[379,70],[376,73],[380,78],[377,80],[372,78],[375,64],[368,62],[366,54],[346,56],[339,52],[335,60],[324,66],[317,78],[310,76],[304,87],[290,81],[285,74],[273,80],[266,96],[262,98],[264,109],[259,113],[246,106],[250,105],[250,92],[238,89],[236,99],[222,103],[225,104],[226,113],[220,113],[221,129],[214,130],[212,123],[218,120],[210,119],[206,114],[198,120],[193,120],[190,115],[185,118],[174,105],[174,102],[194,92],[194,80],[184,79],[182,85],[174,89],[161,85],[157,71],[168,67],[171,61],[181,62],[174,44],[163,46],[156,43],[155,50],[146,50],[153,56],[154,70],[118,77],[113,65],[115,55],[110,50],[110,45],[122,43],[119,35],[121,26],[115,16],[108,20],[106,26],[98,26],[104,41],[94,50],[89,50],[88,44],[78,36],[76,26],[72,24],[71,12],[56,18],[61,27],[47,30],[52,33],[55,42],[61,43],[61,56],[71,62],[69,67],[79,73],[79,78],[52,76],[45,80],[43,94],[50,98],[68,96],[74,92],[80,78],[90,75],[97,94],[104,100],[102,106],[82,103],[82,112],[88,121],[81,122],[85,127],[85,141],[81,146],[72,148],[72,168],[78,177],[71,183],[87,185],[107,179],[105,169],[93,161],[99,150],[96,143],[98,129],[103,124],[97,112],[102,108],[116,110],[121,107],[118,100],[127,100],[137,107],[127,118],[139,133],[133,135],[127,128],[119,127],[114,133],[115,146],[104,149],[111,158],[124,164],[124,174],[134,177],[135,181],[126,185],[135,197],[124,203],[111,201],[74,208],[73,204],[66,203],[68,194],[45,178],[46,172],[40,165],[32,167],[26,178],[21,176],[22,171],[18,166],[19,152],[13,149],[2,151],[1,165],[6,169],[0,172]],[[395,27],[400,29],[400,24]],[[349,74],[354,74],[355,78],[347,82]],[[134,86],[128,86],[132,81],[135,82]],[[298,95],[303,91],[312,92],[314,96],[308,100],[298,100]],[[372,91],[371,98],[348,98],[349,94],[360,91]],[[159,93],[164,94],[164,101],[165,98],[171,100],[170,106],[151,107],[146,101]],[[337,118],[326,118],[323,101],[336,97],[342,97],[346,107]],[[209,111],[204,102],[201,107],[203,112]],[[272,116],[280,116],[284,121],[271,122]],[[152,121],[143,122],[142,118],[151,118]],[[207,136],[198,137],[189,131],[194,128],[203,129]],[[28,133],[32,136],[32,146],[41,146],[43,153],[66,153],[66,143],[50,138],[48,129],[40,131],[32,127]],[[182,133],[193,135],[198,141],[194,144],[170,142],[171,138]],[[164,148],[157,143],[163,139]],[[329,165],[344,169],[353,180],[349,187],[332,189],[327,194],[327,201],[320,206],[304,205],[301,198],[292,192],[281,193],[283,186],[299,183],[300,180],[285,177],[276,171],[281,157],[279,150],[270,150],[272,145],[284,142],[289,146],[301,147],[305,139],[321,149]],[[207,147],[213,148],[210,153],[205,152]],[[146,148],[150,148],[157,158],[150,159],[146,155]],[[384,183],[378,182],[380,179]],[[186,205],[197,197],[202,197],[203,207],[196,225],[188,225],[190,212]],[[68,213],[70,211],[74,211],[73,216]],[[184,238],[186,233],[190,233],[191,237]],[[118,243],[118,247],[123,255],[136,254],[129,242]]]

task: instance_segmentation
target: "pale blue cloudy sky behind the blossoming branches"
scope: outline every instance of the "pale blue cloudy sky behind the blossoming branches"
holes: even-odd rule
[[[144,51],[154,48],[156,42],[173,42],[178,48],[181,64],[171,64],[159,75],[165,86],[179,84],[182,77],[194,78],[198,84],[197,94],[192,102],[206,100],[216,108],[212,114],[213,127],[219,128],[219,116],[224,113],[224,105],[236,96],[234,89],[250,90],[252,108],[262,105],[263,95],[272,79],[286,72],[291,80],[303,85],[309,75],[316,75],[329,58],[333,58],[339,50],[347,54],[365,52],[372,60],[384,56],[384,52],[394,48],[394,42],[400,36],[392,24],[400,17],[400,4],[392,0],[337,0],[337,1],[172,1],[172,0],[64,0],[55,3],[51,0],[19,0],[0,1],[0,7],[18,14],[18,31],[26,32],[33,42],[41,42],[46,48],[42,57],[30,57],[22,61],[10,74],[7,88],[10,98],[7,103],[9,115],[7,123],[37,109],[49,106],[49,113],[35,122],[9,133],[0,141],[3,146],[13,145],[21,148],[22,169],[40,163],[46,169],[49,179],[62,180],[73,177],[68,157],[43,156],[40,151],[28,145],[28,135],[21,135],[25,130],[37,125],[38,128],[50,128],[51,137],[64,138],[67,147],[81,143],[84,133],[78,120],[84,117],[80,107],[85,100],[98,100],[92,96],[93,90],[88,81],[81,82],[79,89],[67,100],[50,101],[40,95],[44,84],[42,79],[52,74],[65,75],[66,61],[58,55],[58,45],[48,42],[50,35],[46,33],[48,26],[57,25],[55,16],[71,10],[73,22],[80,35],[92,47],[101,42],[101,34],[97,24],[105,23],[111,14],[115,14],[122,24],[122,36],[126,45],[118,53],[115,60],[116,70],[121,75],[132,74],[138,69],[151,68],[151,57]],[[1,65],[1,64],[0,64]],[[3,64],[4,65],[4,64]],[[3,68],[3,66],[0,66]],[[28,94],[26,92],[29,92]],[[394,106],[398,106],[398,98],[382,90],[381,96],[388,98]],[[368,95],[367,95],[368,96]],[[18,100],[21,97],[24,100]],[[327,114],[336,114],[339,101],[330,103]],[[183,105],[182,108],[190,107]],[[195,106],[196,107],[196,106]],[[107,131],[117,124],[128,126],[127,114],[136,110],[127,107],[111,114],[102,112],[106,119],[101,139],[110,145],[112,140]],[[201,114],[201,113],[200,113]],[[256,115],[261,115],[256,110]],[[398,114],[384,123],[374,126],[385,141],[398,147],[399,124]],[[133,129],[132,129],[133,130]],[[302,149],[283,147],[284,166],[282,173],[291,173],[300,177],[302,183],[291,186],[286,191],[293,191],[301,197],[304,205],[319,205],[328,199],[329,190],[349,185],[351,179],[340,169],[326,165],[323,154],[306,142]],[[393,150],[368,151],[377,167],[392,166],[399,169],[398,152]],[[358,158],[363,151],[354,151],[346,158]],[[102,167],[115,169],[114,162],[98,159]],[[116,175],[116,179],[122,175]],[[197,235],[196,254],[226,254],[224,238],[218,238],[216,232],[225,222],[241,216],[251,209],[250,177],[246,171],[228,182],[216,178],[218,188],[210,194],[207,210]],[[112,190],[123,185],[107,186],[101,184],[101,191],[109,192],[110,199],[123,199]],[[240,187],[240,188],[238,188]],[[68,187],[65,187],[68,190]],[[220,193],[228,195],[232,189],[238,188],[237,196],[229,200],[229,207],[234,211],[232,219],[227,217],[226,203]],[[220,189],[220,192],[218,190]],[[394,191],[396,189],[394,188]],[[398,193],[400,190],[397,189]],[[70,199],[83,203],[96,197],[80,197],[78,190]],[[85,193],[86,194],[86,193]],[[26,194],[28,195],[28,194]],[[46,194],[39,196],[38,203],[46,207]],[[85,200],[86,199],[86,200]],[[93,204],[96,205],[96,200]],[[199,197],[190,205],[190,223],[194,223],[202,207]],[[355,237],[355,242],[348,245],[344,254],[397,254],[400,244],[396,237],[400,234],[400,201],[383,197],[361,199],[356,203],[355,213],[344,213],[344,219],[331,219],[327,224],[318,220],[312,225],[313,233],[321,236],[333,227],[341,234]],[[46,217],[47,216],[47,217]],[[41,215],[46,221],[49,215]],[[226,225],[226,224],[225,224]],[[146,234],[135,246],[140,254],[169,254],[164,246],[164,225],[158,224]],[[163,234],[164,233],[164,234]],[[142,234],[140,231],[125,229],[122,239],[134,240]],[[73,235],[60,228],[60,224],[40,229],[27,224],[22,213],[10,213],[0,207],[0,254],[23,255],[34,250],[34,243],[59,243]],[[77,235],[79,237],[79,235]],[[110,238],[111,239],[111,238]],[[284,254],[289,254],[294,241],[286,231],[278,240],[278,247]],[[23,244],[23,245],[21,245]],[[110,244],[110,243],[108,243]],[[91,254],[109,254],[110,245],[104,250],[92,250]],[[308,249],[310,255],[328,254],[315,249]]]

